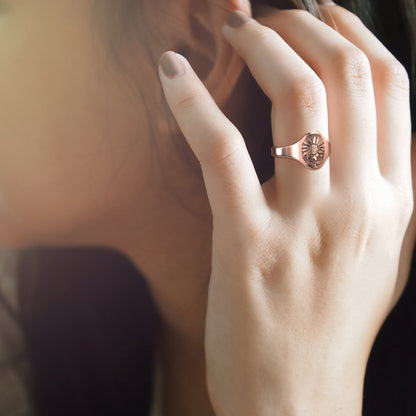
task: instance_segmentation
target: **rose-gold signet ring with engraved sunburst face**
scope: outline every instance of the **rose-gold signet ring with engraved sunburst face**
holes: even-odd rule
[[[310,131],[290,146],[271,149],[273,157],[295,159],[308,169],[319,169],[331,153],[331,143],[319,131]]]

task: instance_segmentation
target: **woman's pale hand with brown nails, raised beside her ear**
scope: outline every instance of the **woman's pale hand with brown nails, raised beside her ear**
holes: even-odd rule
[[[413,211],[409,78],[352,13],[321,8],[341,34],[300,10],[273,9],[271,27],[224,26],[272,101],[274,145],[329,138],[319,170],[277,158],[261,185],[189,63],[161,60],[213,213],[205,346],[217,415],[361,414],[368,355],[397,300]]]

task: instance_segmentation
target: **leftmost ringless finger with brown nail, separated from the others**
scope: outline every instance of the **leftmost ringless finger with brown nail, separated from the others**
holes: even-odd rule
[[[228,223],[253,218],[267,204],[241,133],[182,55],[165,52],[159,76],[169,107],[201,164],[214,219]]]

